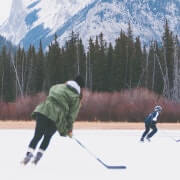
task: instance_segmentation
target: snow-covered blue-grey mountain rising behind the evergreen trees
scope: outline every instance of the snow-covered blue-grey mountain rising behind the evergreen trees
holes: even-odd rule
[[[27,49],[46,48],[58,36],[61,45],[70,32],[78,32],[85,45],[101,32],[114,42],[130,22],[134,37],[143,42],[161,40],[165,19],[180,37],[179,0],[14,0],[0,34]]]

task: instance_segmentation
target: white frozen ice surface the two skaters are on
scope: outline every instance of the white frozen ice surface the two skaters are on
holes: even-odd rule
[[[37,166],[23,166],[33,130],[0,130],[1,180],[180,180],[180,131],[159,130],[150,143],[142,130],[75,130],[74,137],[107,165],[100,164],[75,140],[56,133]]]

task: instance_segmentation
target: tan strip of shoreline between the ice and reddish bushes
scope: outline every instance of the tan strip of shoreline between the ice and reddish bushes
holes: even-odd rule
[[[0,121],[0,129],[33,129],[35,121]],[[157,123],[160,129],[180,130],[180,123]],[[88,122],[76,121],[74,129],[144,129],[144,123],[139,122]]]

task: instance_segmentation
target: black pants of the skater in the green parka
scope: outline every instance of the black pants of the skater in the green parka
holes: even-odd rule
[[[46,150],[51,140],[51,137],[56,132],[56,125],[53,121],[48,119],[46,116],[42,114],[36,115],[36,128],[34,137],[31,140],[29,147],[35,149],[38,142],[43,137],[42,143],[40,145],[40,149]]]

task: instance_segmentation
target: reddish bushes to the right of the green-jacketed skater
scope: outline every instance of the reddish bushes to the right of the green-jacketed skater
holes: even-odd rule
[[[85,92],[79,120],[141,122],[155,105],[161,105],[161,122],[178,122],[180,104],[158,96],[147,89],[115,93]]]

